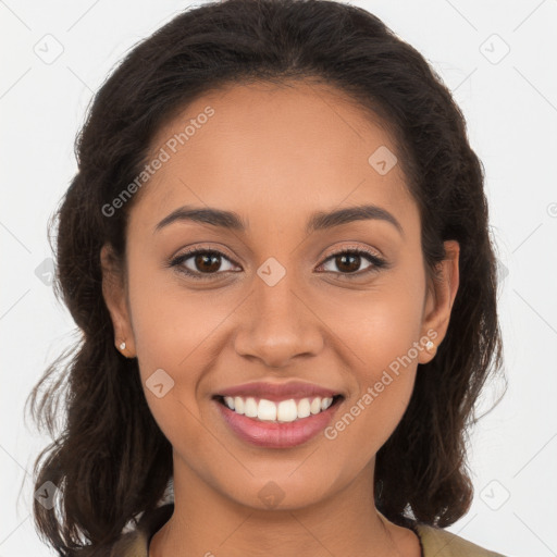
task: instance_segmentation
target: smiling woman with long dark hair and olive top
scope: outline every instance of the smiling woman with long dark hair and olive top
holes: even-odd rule
[[[33,393],[50,424],[67,401],[36,462],[60,555],[498,555],[443,530],[502,343],[481,163],[413,48],[333,1],[207,3],[77,147],[57,287],[84,338]]]

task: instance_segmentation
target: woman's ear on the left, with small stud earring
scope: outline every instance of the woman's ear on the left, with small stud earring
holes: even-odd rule
[[[124,272],[110,244],[104,244],[100,250],[100,264],[102,270],[102,297],[112,319],[115,334],[114,345],[126,358],[134,358],[136,354],[135,338],[127,306]],[[123,350],[120,348],[122,342],[126,343]]]

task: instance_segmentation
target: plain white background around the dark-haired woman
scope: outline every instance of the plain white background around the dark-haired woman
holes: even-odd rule
[[[485,165],[505,275],[499,311],[509,388],[473,431],[474,503],[448,530],[508,556],[556,555],[557,2],[352,3],[381,17],[442,75]],[[36,274],[52,255],[47,220],[76,171],[75,134],[113,65],[188,5],[0,1],[0,557],[53,555],[30,517],[33,461],[49,440],[24,422],[23,405],[76,338],[65,308]],[[57,48],[63,52],[51,63],[35,52]],[[500,387],[485,391],[482,408]]]

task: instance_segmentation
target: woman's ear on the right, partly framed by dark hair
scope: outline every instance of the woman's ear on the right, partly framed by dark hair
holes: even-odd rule
[[[460,246],[456,240],[446,240],[445,259],[436,267],[436,275],[428,281],[428,296],[424,302],[421,336],[430,338],[437,347],[445,338],[450,310],[458,290],[459,284],[459,255]],[[428,334],[429,332],[429,334]],[[419,363],[428,363],[435,357],[435,350],[431,352],[421,350]]]

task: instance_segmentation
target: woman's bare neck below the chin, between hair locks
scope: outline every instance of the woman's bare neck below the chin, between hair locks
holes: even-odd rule
[[[416,534],[375,509],[373,468],[317,504],[258,509],[218,492],[174,456],[174,513],[152,536],[149,557],[419,557]]]

